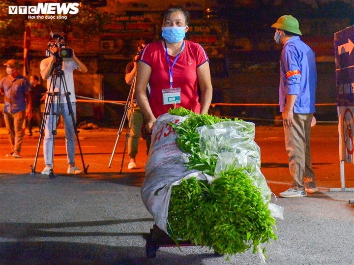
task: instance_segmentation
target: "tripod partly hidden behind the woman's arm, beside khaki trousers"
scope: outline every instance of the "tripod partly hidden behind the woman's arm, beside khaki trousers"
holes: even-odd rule
[[[121,134],[121,132],[123,130],[125,120],[126,120],[126,118],[128,116],[128,112],[130,110],[130,118],[128,118],[129,122],[127,123],[127,128],[126,128],[126,135],[125,135],[126,139],[125,139],[123,157],[122,157],[122,161],[121,161],[121,165],[120,165],[119,174],[121,174],[122,169],[123,169],[125,151],[126,151],[126,147],[127,147],[127,144],[128,144],[128,138],[130,136],[131,125],[133,124],[133,119],[134,119],[134,115],[133,114],[134,114],[135,108],[136,108],[136,106],[138,104],[136,99],[134,98],[135,84],[136,84],[136,73],[134,75],[133,82],[130,85],[130,91],[129,91],[128,99],[127,99],[127,101],[125,103],[124,114],[123,114],[122,120],[121,120],[120,125],[119,125],[119,129],[118,129],[118,136],[117,136],[116,144],[115,144],[115,146],[113,148],[111,160],[110,160],[110,163],[109,163],[109,168],[111,168],[113,156],[114,156],[114,153],[116,151],[117,144],[118,144],[118,139],[119,139],[119,136],[120,136],[120,134]]]

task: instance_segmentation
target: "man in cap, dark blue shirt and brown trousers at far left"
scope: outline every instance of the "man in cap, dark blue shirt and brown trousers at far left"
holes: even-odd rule
[[[5,97],[3,113],[12,148],[11,153],[6,154],[6,156],[18,158],[20,157],[24,137],[22,124],[26,117],[32,118],[29,82],[25,77],[20,75],[20,64],[16,60],[8,60],[4,65],[6,66],[8,76],[1,79],[0,89]]]

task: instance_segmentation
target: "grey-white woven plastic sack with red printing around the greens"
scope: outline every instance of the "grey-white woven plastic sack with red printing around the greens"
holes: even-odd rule
[[[175,130],[169,122],[177,123],[187,117],[164,114],[156,119],[151,137],[146,177],[141,187],[141,197],[145,207],[154,218],[155,224],[165,233],[171,185],[183,177],[206,179],[200,171],[184,166],[185,154],[176,145]]]

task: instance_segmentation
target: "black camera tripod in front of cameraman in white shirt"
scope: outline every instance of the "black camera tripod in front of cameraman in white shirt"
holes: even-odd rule
[[[58,120],[59,120],[59,116],[60,116],[60,93],[61,93],[61,89],[63,89],[64,91],[64,95],[66,98],[66,104],[69,110],[69,115],[71,116],[72,119],[72,123],[74,126],[74,132],[76,134],[76,139],[78,142],[78,146],[80,149],[80,155],[81,155],[81,160],[83,163],[83,168],[84,168],[84,174],[87,174],[87,170],[89,168],[89,165],[87,167],[85,167],[85,162],[84,162],[84,157],[83,157],[83,153],[81,150],[81,145],[80,145],[80,140],[79,140],[79,131],[77,130],[77,126],[76,126],[76,120],[74,117],[74,112],[71,106],[71,100],[70,100],[70,92],[68,91],[67,85],[66,85],[66,80],[65,80],[65,76],[64,76],[64,71],[61,69],[62,67],[62,59],[61,58],[57,58],[55,63],[53,64],[53,68],[52,68],[52,76],[51,76],[51,82],[50,82],[50,86],[48,88],[48,95],[45,101],[45,110],[43,113],[43,119],[42,119],[42,123],[41,123],[41,127],[39,130],[40,136],[39,136],[39,141],[38,141],[38,147],[37,147],[37,152],[36,152],[36,156],[34,159],[34,165],[30,166],[31,168],[31,174],[30,175],[35,175],[35,168],[36,168],[36,164],[37,164],[37,159],[38,159],[38,152],[39,152],[39,148],[40,148],[40,143],[43,137],[43,133],[44,133],[44,129],[45,129],[45,124],[50,121],[48,119],[52,119],[52,123],[51,123],[51,128],[49,128],[51,130],[51,134],[53,135],[53,143],[52,143],[52,168],[50,169],[50,173],[49,173],[49,178],[54,178],[54,173],[53,173],[53,168],[54,168],[54,146],[55,146],[55,136],[57,135],[57,125],[58,125]],[[59,80],[59,83],[57,83],[57,80]],[[56,85],[59,84],[59,88],[55,89]]]

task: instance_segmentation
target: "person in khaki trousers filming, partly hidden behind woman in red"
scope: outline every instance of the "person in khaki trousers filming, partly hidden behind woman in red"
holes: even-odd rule
[[[133,85],[135,87],[134,78],[136,76],[136,72],[138,70],[138,62],[139,56],[143,51],[144,47],[151,41],[148,40],[140,40],[138,46],[138,53],[135,55],[134,59],[130,61],[125,67],[125,82],[128,85]],[[133,87],[131,87],[132,89]],[[136,101],[135,94],[133,95],[132,101]],[[143,138],[147,141],[147,153],[150,147],[150,134],[145,131],[145,127],[143,126],[143,113],[138,105],[136,105],[134,112],[132,113],[132,109],[128,111],[128,119],[130,122],[130,134],[128,138],[128,154],[130,157],[130,161],[128,164],[128,169],[136,169],[136,160],[135,157],[138,153],[139,146],[139,138],[143,130]],[[132,120],[131,120],[132,119]],[[143,127],[143,128],[142,128]]]

